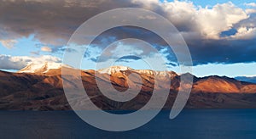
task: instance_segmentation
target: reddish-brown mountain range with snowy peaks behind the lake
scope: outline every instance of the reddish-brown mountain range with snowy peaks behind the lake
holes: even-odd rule
[[[67,75],[75,78],[73,71],[78,69],[62,64],[30,64],[18,73],[0,71],[0,109],[70,109],[63,92],[61,68],[67,69]],[[124,66],[79,71],[84,89],[91,101],[102,109],[142,108],[150,99],[153,90],[160,91],[166,88],[170,89],[170,94],[165,108],[172,108],[177,91],[180,89],[180,75],[173,71],[131,69]],[[137,82],[137,77],[132,76],[131,73],[140,75],[143,82]],[[154,86],[155,75],[160,80],[156,86]],[[96,78],[102,83],[106,92],[111,92],[109,89],[111,85],[121,92],[128,87],[142,86],[142,88],[137,97],[131,101],[115,102],[100,92]],[[171,79],[171,86],[166,83],[167,79]],[[76,85],[71,82],[68,86]],[[194,84],[186,108],[256,108],[256,84],[228,77],[194,76]]]

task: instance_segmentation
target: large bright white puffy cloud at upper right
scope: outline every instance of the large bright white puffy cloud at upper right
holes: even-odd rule
[[[148,3],[151,4],[151,2],[144,1],[145,8],[148,7]],[[242,19],[249,17],[245,10],[236,7],[231,2],[216,4],[212,8],[201,8],[192,2],[177,0],[155,3],[155,5],[157,6],[151,9],[166,15],[179,31],[197,32],[202,38],[207,39],[218,39],[222,31],[229,30]]]

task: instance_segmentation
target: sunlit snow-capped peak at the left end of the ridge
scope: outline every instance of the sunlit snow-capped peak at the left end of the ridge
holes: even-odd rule
[[[47,73],[49,69],[60,69],[67,66],[61,63],[45,62],[43,64],[28,64],[25,68],[20,69],[18,73]],[[68,67],[68,66],[67,66]]]

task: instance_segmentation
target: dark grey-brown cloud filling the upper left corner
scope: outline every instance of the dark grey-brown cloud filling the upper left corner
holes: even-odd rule
[[[137,7],[128,1],[112,0],[2,0],[0,39],[34,35],[51,45],[64,45],[86,19],[112,8]]]

